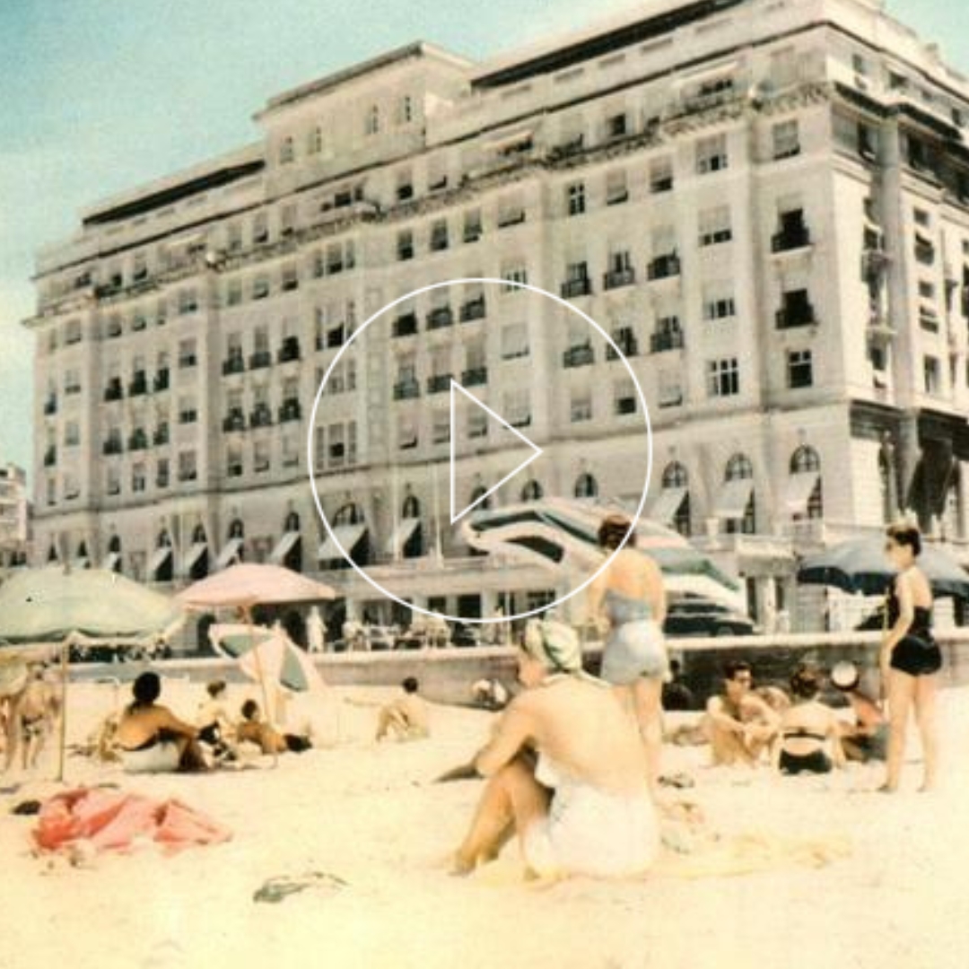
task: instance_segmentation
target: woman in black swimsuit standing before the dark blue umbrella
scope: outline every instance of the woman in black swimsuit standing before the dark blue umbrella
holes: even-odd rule
[[[932,590],[916,565],[922,551],[919,529],[911,525],[893,525],[887,534],[885,551],[898,575],[888,590],[888,629],[879,655],[882,690],[889,702],[888,777],[881,790],[889,793],[898,790],[905,754],[905,732],[914,706],[922,736],[924,776],[921,790],[928,791],[935,785],[938,761],[935,674],[942,667],[942,653],[932,638]]]

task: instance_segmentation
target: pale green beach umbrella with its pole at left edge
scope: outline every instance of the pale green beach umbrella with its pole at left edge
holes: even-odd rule
[[[30,569],[0,586],[0,640],[39,645],[61,656],[61,729],[57,779],[64,777],[67,655],[72,645],[153,647],[183,621],[167,596],[105,569]]]

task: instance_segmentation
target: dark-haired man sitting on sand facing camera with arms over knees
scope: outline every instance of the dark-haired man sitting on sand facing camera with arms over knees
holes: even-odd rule
[[[723,695],[706,703],[703,725],[713,766],[753,766],[777,739],[780,717],[751,690],[753,678],[749,663],[728,663]]]

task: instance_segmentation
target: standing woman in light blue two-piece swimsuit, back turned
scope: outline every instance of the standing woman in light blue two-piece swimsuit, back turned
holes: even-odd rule
[[[663,681],[670,664],[663,641],[666,592],[659,567],[635,547],[632,522],[612,516],[599,529],[599,544],[612,555],[589,586],[589,615],[606,626],[602,678],[636,713],[646,750],[648,778],[659,778],[663,744]],[[629,541],[615,551],[626,535]]]

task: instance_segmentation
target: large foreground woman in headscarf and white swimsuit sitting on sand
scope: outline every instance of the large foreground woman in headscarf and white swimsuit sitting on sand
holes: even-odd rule
[[[578,637],[548,637],[545,623],[526,627],[518,679],[525,689],[474,759],[488,781],[455,873],[496,858],[513,833],[532,874],[645,871],[659,838],[635,719],[582,672]]]

